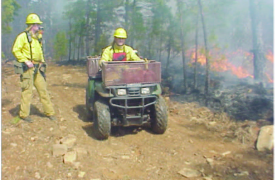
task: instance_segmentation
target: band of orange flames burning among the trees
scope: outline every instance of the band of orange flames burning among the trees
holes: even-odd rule
[[[195,50],[187,51],[187,57],[190,61],[187,63],[190,67],[194,67]],[[271,50],[266,51],[265,59],[263,59],[264,79],[266,83],[273,83],[273,53]],[[210,70],[218,73],[228,73],[237,78],[253,78],[253,54],[251,52],[238,49],[233,52],[223,52],[220,48],[213,48],[208,54]],[[206,56],[200,50],[197,54],[197,64],[205,66]]]

